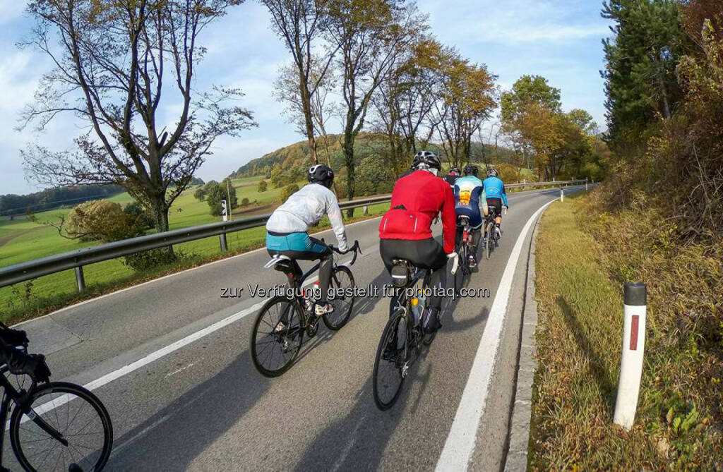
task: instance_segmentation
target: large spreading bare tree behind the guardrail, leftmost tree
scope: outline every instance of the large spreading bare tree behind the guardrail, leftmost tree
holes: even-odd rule
[[[23,152],[26,175],[51,185],[119,184],[152,211],[156,230],[167,231],[168,208],[214,140],[254,125],[249,111],[224,106],[239,90],[192,90],[205,51],[200,33],[239,3],[30,1],[36,25],[24,45],[46,53],[55,66],[40,80],[21,127],[32,121],[43,129],[71,112],[88,130],[75,139],[74,152],[37,145]],[[168,132],[158,124],[162,93],[181,104]]]

